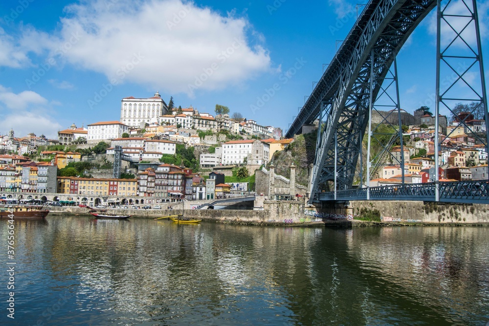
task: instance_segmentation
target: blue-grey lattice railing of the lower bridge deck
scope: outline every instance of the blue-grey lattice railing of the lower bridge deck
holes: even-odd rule
[[[435,183],[400,184],[336,192],[336,200],[422,200],[435,201]],[[489,203],[489,181],[440,182],[440,201]],[[320,201],[334,200],[334,192],[319,193]]]

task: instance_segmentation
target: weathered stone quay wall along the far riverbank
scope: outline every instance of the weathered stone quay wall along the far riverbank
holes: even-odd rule
[[[313,215],[306,215],[304,212],[304,202],[301,201],[274,201],[260,200],[255,202],[254,210],[184,210],[186,217],[202,219],[205,221],[215,221],[221,223],[240,223],[240,224],[295,224],[310,225],[324,224],[317,221]],[[108,209],[109,213],[119,215],[132,215],[134,218],[157,218],[168,215],[181,213],[181,204],[172,205],[173,210],[168,209]],[[165,207],[164,207],[165,208]],[[338,215],[357,215],[362,209],[378,209],[383,221],[396,224],[399,222],[415,222],[425,224],[489,224],[489,205],[486,204],[445,204],[422,201],[350,201],[345,203],[336,203],[336,205],[309,206],[306,205],[308,213],[330,213]],[[51,215],[78,215],[90,216],[89,211],[82,207],[50,207]],[[49,217],[49,216],[48,216]],[[326,224],[334,224],[332,221],[326,221]],[[351,221],[347,222],[355,225]],[[361,224],[361,223],[360,223]]]

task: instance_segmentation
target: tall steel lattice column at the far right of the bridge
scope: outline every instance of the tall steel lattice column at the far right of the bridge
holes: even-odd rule
[[[448,33],[442,35],[442,30],[448,30]],[[453,34],[454,36],[450,37]],[[468,37],[474,36],[474,34],[475,41],[471,42]],[[488,102],[476,0],[460,0],[459,2],[438,0],[436,54],[435,130],[439,130],[440,110],[457,116],[460,113],[457,110],[457,105],[459,103],[467,104],[469,108],[467,113],[469,114],[464,114],[463,117],[459,115],[455,127],[463,126],[465,133],[472,134],[476,141],[484,145],[486,153],[489,153]],[[454,80],[445,78],[445,82],[441,83],[441,76],[445,73],[454,74],[456,78]],[[478,76],[479,79],[471,80],[474,75]],[[476,115],[479,118],[484,117],[486,122],[485,135],[477,134],[473,125],[468,123],[470,117],[473,118]],[[445,137],[440,137],[438,132],[435,132],[436,201],[440,200],[438,186],[439,156],[445,140],[452,132],[447,132]]]

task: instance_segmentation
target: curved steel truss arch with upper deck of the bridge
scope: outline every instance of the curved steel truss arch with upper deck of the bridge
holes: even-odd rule
[[[436,5],[435,0],[371,0],[365,6],[287,132],[291,137],[320,118],[310,202],[336,200],[338,191],[351,192],[361,142],[373,103],[382,93],[382,81],[402,45]],[[334,182],[334,192],[319,196],[319,185],[327,181]],[[361,191],[367,192],[367,199],[368,188]]]

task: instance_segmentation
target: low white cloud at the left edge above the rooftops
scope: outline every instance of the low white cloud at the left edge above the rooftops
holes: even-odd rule
[[[5,134],[11,128],[16,136],[26,136],[30,132],[57,138],[61,125],[51,120],[52,115],[48,101],[33,91],[19,94],[11,92],[0,85],[0,133]],[[52,105],[52,103],[51,103]]]

